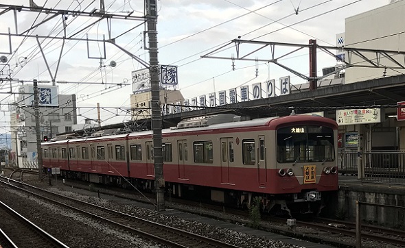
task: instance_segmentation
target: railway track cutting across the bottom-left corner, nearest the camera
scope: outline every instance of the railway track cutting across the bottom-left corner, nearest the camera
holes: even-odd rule
[[[69,248],[0,201],[0,245],[19,248]]]

